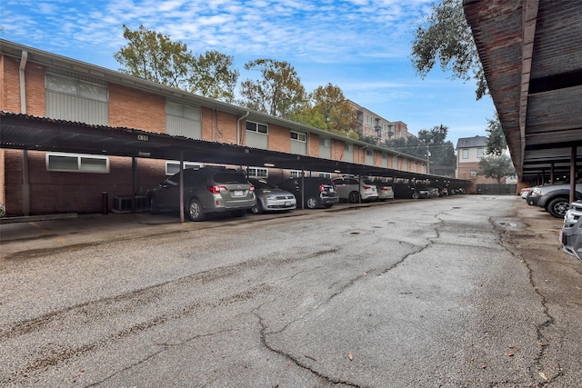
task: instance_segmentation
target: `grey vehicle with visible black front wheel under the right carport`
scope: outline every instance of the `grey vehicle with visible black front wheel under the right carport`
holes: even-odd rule
[[[575,199],[582,199],[582,184],[576,184]],[[570,184],[546,184],[527,194],[527,204],[539,206],[556,218],[566,215],[570,207]]]

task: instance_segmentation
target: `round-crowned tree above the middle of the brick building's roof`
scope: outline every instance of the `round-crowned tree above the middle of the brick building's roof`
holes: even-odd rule
[[[258,70],[262,78],[241,84],[241,104],[265,114],[289,118],[306,101],[306,90],[292,65],[273,59],[256,59],[245,70]]]

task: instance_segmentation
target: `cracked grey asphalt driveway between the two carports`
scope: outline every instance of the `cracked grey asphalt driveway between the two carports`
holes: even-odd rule
[[[582,386],[560,226],[488,195],[1,224],[0,385]]]

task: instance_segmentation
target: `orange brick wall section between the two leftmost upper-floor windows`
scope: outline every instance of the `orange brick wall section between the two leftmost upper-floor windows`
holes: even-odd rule
[[[109,84],[109,125],[166,133],[166,99],[123,85]]]

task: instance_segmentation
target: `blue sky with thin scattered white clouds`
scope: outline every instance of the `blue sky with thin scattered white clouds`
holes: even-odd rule
[[[293,65],[308,92],[339,86],[346,98],[408,131],[444,124],[447,140],[487,135],[495,107],[473,81],[440,68],[420,79],[410,62],[416,25],[433,0],[0,0],[0,36],[118,70],[123,25],[186,43],[196,54],[232,55],[243,65],[271,58]]]

